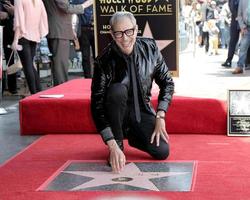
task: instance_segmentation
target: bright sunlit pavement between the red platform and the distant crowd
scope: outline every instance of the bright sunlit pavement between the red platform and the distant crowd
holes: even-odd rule
[[[227,49],[219,49],[219,55],[212,56],[205,54],[204,48],[197,48],[195,56],[191,48],[180,52],[175,95],[226,100],[230,89],[250,89],[250,70],[234,75],[238,56],[229,69],[221,66],[226,58]]]

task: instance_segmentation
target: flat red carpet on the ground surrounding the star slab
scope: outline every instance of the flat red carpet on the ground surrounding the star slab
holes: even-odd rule
[[[47,135],[0,167],[1,200],[250,199],[250,139],[223,135],[172,134],[167,161],[196,161],[192,192],[37,192],[68,160],[105,160],[98,135]],[[151,158],[125,145],[128,161]],[[124,199],[124,198],[123,198]]]

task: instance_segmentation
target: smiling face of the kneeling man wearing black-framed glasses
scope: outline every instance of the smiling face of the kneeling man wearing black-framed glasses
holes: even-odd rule
[[[134,25],[129,18],[123,18],[113,26],[111,35],[117,46],[126,55],[131,54],[133,51],[137,30],[137,25]]]

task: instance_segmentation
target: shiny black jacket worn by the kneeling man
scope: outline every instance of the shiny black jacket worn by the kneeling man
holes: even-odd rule
[[[168,67],[153,39],[137,37],[134,46],[135,71],[139,77],[139,94],[142,95],[146,110],[155,115],[151,106],[153,80],[160,88],[157,110],[167,111],[174,92],[174,82]],[[95,59],[94,76],[91,86],[91,111],[97,130],[104,141],[113,134],[105,113],[105,96],[112,83],[121,82],[126,76],[127,64],[115,42],[111,42]]]

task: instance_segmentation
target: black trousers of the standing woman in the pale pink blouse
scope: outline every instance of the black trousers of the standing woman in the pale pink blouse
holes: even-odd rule
[[[18,51],[23,65],[23,72],[28,83],[31,94],[41,91],[40,79],[37,70],[34,67],[33,60],[36,54],[36,42],[29,41],[25,38],[19,40],[23,49]]]

